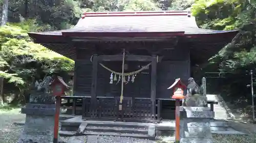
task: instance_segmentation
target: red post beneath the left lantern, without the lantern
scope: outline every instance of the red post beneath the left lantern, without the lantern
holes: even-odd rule
[[[60,96],[56,96],[53,143],[58,143],[60,103]]]

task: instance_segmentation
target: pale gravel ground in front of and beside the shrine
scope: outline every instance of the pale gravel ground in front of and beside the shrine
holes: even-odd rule
[[[23,126],[15,126],[14,122],[25,121],[25,115],[19,113],[20,109],[14,109],[11,111],[0,111],[0,143],[15,143],[20,133],[23,130]],[[222,135],[213,134],[215,143],[256,143],[256,125],[253,124],[241,124],[243,128],[251,131],[251,135]],[[241,127],[242,128],[242,127]],[[65,141],[69,137],[60,137],[60,141]],[[147,139],[137,139],[129,137],[114,137],[114,136],[100,136],[99,142],[115,142],[114,140],[119,140],[117,142],[133,142],[133,143],[152,143],[153,141]],[[162,142],[162,141],[157,141]],[[171,143],[172,141],[166,142]]]

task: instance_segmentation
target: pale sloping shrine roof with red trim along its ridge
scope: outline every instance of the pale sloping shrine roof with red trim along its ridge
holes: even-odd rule
[[[75,33],[162,33],[160,36],[215,34],[225,31],[206,30],[197,26],[188,11],[84,13],[74,28],[62,32]],[[71,34],[73,33],[73,34]],[[95,35],[95,34],[94,34]],[[83,35],[85,36],[85,35]]]

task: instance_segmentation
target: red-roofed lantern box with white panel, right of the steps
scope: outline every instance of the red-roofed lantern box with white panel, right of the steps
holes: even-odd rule
[[[175,82],[168,89],[174,89],[173,99],[185,98],[184,90],[186,89],[186,85],[181,82],[180,78],[175,79]]]

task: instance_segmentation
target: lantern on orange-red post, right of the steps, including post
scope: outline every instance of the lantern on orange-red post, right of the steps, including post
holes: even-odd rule
[[[175,99],[175,143],[180,142],[180,100],[184,99],[184,89],[186,85],[183,84],[180,78],[177,78],[175,82],[168,88],[174,89],[174,94],[172,96]]]

